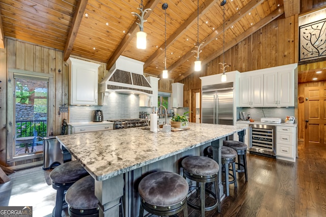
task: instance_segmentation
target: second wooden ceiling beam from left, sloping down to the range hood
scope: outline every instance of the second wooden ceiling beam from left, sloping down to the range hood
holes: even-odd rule
[[[160,0],[149,1],[149,3],[144,7],[144,10],[148,9],[148,8],[152,9],[150,11],[147,11],[146,14],[144,14],[144,20],[146,20],[149,17],[149,15],[152,13],[152,11],[154,10],[154,8],[157,6],[158,3],[160,3]],[[111,69],[113,64],[116,62],[118,57],[121,55],[121,53],[124,51],[124,49],[127,47],[129,42],[131,41],[132,37],[138,32],[139,25],[137,24],[137,22],[138,22],[138,18],[136,18],[134,23],[131,25],[131,27],[128,30],[128,33],[122,39],[121,43],[119,44],[117,49],[114,51],[114,53],[112,54],[110,59],[107,60],[107,63],[106,63],[107,70]]]

